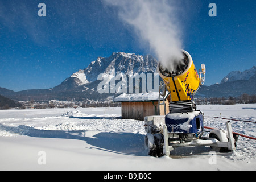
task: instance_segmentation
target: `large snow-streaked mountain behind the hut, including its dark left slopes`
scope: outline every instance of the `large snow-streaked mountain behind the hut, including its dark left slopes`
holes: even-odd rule
[[[157,64],[158,60],[151,55],[141,56],[135,53],[113,52],[110,57],[98,57],[87,68],[73,73],[60,85],[51,89],[23,90],[20,92],[4,92],[5,90],[0,89],[0,94],[3,91],[3,95],[17,100],[71,100],[75,98],[75,100],[81,101],[104,101],[109,97],[113,98],[115,94],[97,92],[98,84],[102,81],[98,79],[99,75],[110,75],[113,74],[113,71],[114,76],[119,73],[126,76],[129,74],[156,73]],[[116,80],[114,84],[119,81]]]

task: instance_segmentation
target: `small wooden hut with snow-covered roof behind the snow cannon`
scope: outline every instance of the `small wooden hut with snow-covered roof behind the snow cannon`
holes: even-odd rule
[[[158,98],[158,92],[138,94],[123,93],[120,96],[114,98],[113,102],[121,102],[122,119],[137,119],[144,121],[144,117],[146,116],[164,115],[163,101],[159,102]],[[169,113],[169,101],[170,96],[167,94],[164,100],[166,104],[166,114]]]

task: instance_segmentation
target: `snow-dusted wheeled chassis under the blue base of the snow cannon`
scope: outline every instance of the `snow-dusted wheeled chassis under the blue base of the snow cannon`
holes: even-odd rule
[[[148,155],[163,156],[170,155],[170,151],[177,147],[188,146],[210,146],[218,152],[233,152],[236,150],[236,141],[232,132],[230,121],[226,122],[227,130],[213,129],[208,137],[196,135],[195,133],[172,133],[168,131],[165,117],[154,115],[145,117],[144,138],[145,149]]]

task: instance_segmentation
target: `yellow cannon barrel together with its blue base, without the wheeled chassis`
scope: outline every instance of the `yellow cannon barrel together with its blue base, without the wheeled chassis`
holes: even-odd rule
[[[165,123],[170,133],[178,134],[180,139],[187,138],[187,134],[200,136],[203,132],[203,113],[196,110],[193,95],[204,84],[205,65],[201,65],[198,75],[191,55],[182,51],[183,60],[178,61],[175,71],[163,68],[158,64],[158,73],[171,95],[169,103],[170,113],[166,115]],[[175,61],[177,62],[177,61]],[[203,73],[203,77],[201,77]]]

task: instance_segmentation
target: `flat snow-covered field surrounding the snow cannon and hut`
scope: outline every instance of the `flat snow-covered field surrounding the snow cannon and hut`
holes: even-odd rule
[[[214,117],[256,121],[256,104],[197,109],[205,113],[204,125],[209,127],[226,129],[226,120]],[[256,123],[231,122],[233,131],[256,137]],[[171,157],[148,156],[143,125],[143,121],[121,119],[120,107],[0,110],[0,169],[256,169],[256,140],[243,137],[233,153],[212,153],[210,147],[200,146],[177,148]]]

